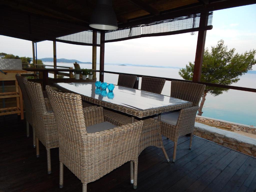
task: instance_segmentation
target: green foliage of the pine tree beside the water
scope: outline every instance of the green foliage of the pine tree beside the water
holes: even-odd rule
[[[223,40],[219,40],[216,46],[212,46],[204,51],[202,63],[201,82],[216,83],[230,85],[239,81],[238,78],[248,70],[252,69],[256,60],[254,58],[256,50],[246,51],[242,54],[235,54],[235,49],[228,50]],[[186,68],[179,70],[179,75],[186,80],[192,80],[194,71],[194,63],[189,62]],[[228,89],[217,87],[206,87],[206,92],[210,92],[214,96],[222,94]]]

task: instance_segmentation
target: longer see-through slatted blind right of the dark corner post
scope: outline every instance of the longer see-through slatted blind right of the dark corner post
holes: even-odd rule
[[[105,33],[105,41],[113,39],[121,39],[143,34],[164,33],[170,31],[178,31],[183,29],[192,29],[199,27],[200,14],[177,17],[174,19],[162,20],[149,24],[142,24],[124,29],[117,29]],[[208,14],[207,25],[212,24],[212,12]]]

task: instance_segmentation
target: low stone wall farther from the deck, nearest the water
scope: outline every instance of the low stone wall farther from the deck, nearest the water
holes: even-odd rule
[[[212,118],[198,116],[198,115],[196,116],[196,122],[207,123],[207,124],[216,125],[216,126],[223,126],[223,127],[231,128],[232,130],[244,131],[247,133],[256,134],[255,126],[243,125],[238,123],[235,124],[228,121],[222,121],[219,119],[212,119]]]

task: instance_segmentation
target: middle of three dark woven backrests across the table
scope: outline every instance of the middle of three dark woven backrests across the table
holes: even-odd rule
[[[142,77],[141,90],[161,94],[164,88],[165,79]]]

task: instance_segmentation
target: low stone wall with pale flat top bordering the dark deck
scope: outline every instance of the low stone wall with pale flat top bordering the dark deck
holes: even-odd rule
[[[202,123],[195,123],[194,135],[256,157],[256,139]]]

